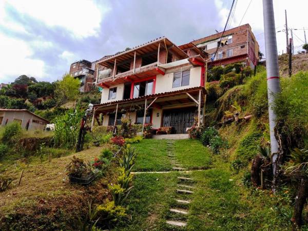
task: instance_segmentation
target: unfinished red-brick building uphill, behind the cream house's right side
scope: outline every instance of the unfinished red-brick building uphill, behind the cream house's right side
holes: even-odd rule
[[[208,65],[217,66],[243,62],[254,69],[259,61],[259,44],[251,26],[245,24],[226,30],[219,44],[221,34],[222,32],[209,35],[191,43],[206,51],[209,57],[214,56],[219,46],[217,54],[214,59],[209,60]]]

